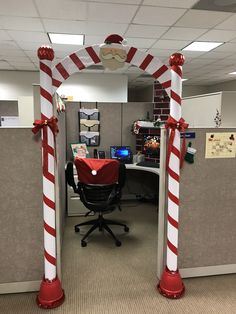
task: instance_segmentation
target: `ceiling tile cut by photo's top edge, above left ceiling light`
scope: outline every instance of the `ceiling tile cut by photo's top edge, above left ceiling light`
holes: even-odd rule
[[[85,20],[87,3],[65,0],[35,0],[41,17],[63,20]],[[59,3],[58,3],[59,2]]]

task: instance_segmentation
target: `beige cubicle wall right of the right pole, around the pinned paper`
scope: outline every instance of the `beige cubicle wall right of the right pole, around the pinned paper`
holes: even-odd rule
[[[180,179],[179,268],[183,277],[236,272],[236,158],[205,158],[206,133],[190,129],[197,149]]]

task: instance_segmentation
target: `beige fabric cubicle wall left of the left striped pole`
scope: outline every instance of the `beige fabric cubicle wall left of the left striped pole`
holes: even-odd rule
[[[43,275],[42,160],[31,128],[0,128],[0,293],[37,290]]]

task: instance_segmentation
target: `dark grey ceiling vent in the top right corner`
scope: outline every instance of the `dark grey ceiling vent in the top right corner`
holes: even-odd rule
[[[235,13],[236,0],[200,0],[192,9]]]

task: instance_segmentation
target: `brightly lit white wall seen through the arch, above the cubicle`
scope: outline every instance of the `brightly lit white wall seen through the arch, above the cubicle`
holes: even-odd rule
[[[127,102],[128,78],[122,74],[75,73],[57,90],[73,101]]]

